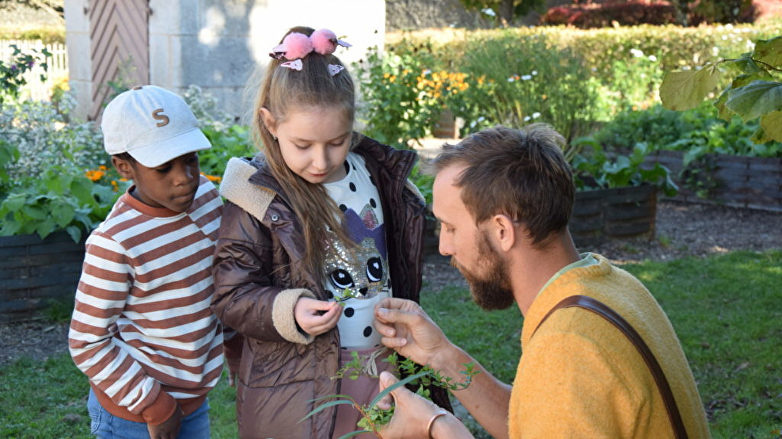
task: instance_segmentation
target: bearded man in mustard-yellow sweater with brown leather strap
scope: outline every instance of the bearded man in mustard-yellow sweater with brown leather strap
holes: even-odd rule
[[[493,437],[709,437],[665,312],[630,273],[576,250],[568,230],[575,187],[562,145],[544,124],[495,127],[445,145],[432,162],[439,251],[450,255],[478,305],[515,303],[524,316],[512,387],[452,344],[414,302],[378,304],[382,343],[454,382],[474,362],[480,373],[454,395]],[[381,388],[395,382],[381,375]],[[390,395],[396,409],[384,438],[472,437],[404,386]]]

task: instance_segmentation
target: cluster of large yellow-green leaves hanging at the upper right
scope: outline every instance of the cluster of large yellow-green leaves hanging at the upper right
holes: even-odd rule
[[[782,72],[782,36],[755,41],[752,52],[745,52],[739,58],[666,73],[660,86],[662,105],[673,110],[696,107],[715,90],[724,66],[736,76],[714,101],[719,117],[730,120],[737,115],[744,122],[759,118],[760,127],[752,140],[756,143],[782,141],[782,83],[776,80]]]

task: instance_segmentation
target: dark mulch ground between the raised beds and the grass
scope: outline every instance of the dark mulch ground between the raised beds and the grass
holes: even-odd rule
[[[736,209],[719,205],[658,202],[656,238],[612,241],[581,251],[597,252],[617,264],[643,260],[665,261],[685,256],[782,249],[782,212]],[[425,284],[464,285],[447,258],[428,255]],[[0,324],[0,367],[27,356],[44,360],[67,351],[67,323],[30,319]]]

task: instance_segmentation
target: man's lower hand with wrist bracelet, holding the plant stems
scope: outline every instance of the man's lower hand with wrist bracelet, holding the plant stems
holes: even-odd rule
[[[380,373],[380,391],[398,381],[389,372]],[[391,420],[380,429],[382,437],[385,439],[427,439],[429,437],[427,427],[430,427],[430,420],[444,410],[421,395],[408,391],[404,386],[396,387],[389,395],[378,402],[380,409],[389,409],[392,399],[394,403]],[[472,438],[472,434],[467,428],[450,413],[439,416],[431,427],[432,436],[436,438]]]

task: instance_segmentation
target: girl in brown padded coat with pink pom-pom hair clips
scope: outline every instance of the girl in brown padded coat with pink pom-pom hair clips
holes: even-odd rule
[[[253,120],[261,153],[231,159],[221,183],[212,306],[245,338],[231,370],[242,439],[358,430],[349,405],[303,418],[330,394],[371,401],[376,379],[332,377],[351,352],[378,351],[381,298],[418,301],[424,202],[407,181],[416,157],[353,132],[338,45],[349,46],[294,27],[272,49]],[[447,406],[447,394],[435,397]]]

